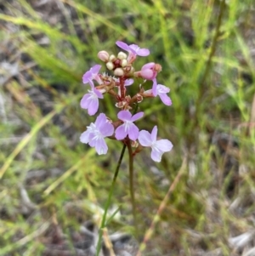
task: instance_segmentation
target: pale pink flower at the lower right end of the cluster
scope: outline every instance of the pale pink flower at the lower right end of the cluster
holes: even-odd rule
[[[151,147],[151,159],[155,162],[161,162],[161,156],[164,152],[171,151],[173,144],[168,139],[156,140],[157,127],[152,129],[151,134],[145,130],[139,132],[139,143],[143,146]]]

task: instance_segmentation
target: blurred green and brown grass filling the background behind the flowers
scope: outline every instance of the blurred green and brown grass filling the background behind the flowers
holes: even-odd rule
[[[0,1],[0,28],[0,255],[80,255],[74,234],[88,220],[99,225],[122,145],[109,139],[108,154],[98,156],[80,143],[94,117],[79,104],[83,73],[101,64],[99,50],[116,54],[117,40],[150,49],[137,70],[161,64],[157,82],[171,88],[173,105],[144,100],[138,125],[157,125],[174,146],[161,163],[148,149],[135,156],[139,234],[124,157],[108,233],[131,234],[137,250],[175,179],[142,255],[250,255],[252,0]],[[116,118],[110,95],[99,110]],[[63,241],[69,253],[45,253]]]

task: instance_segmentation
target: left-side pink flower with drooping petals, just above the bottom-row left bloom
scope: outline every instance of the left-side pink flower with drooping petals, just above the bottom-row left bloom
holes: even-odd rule
[[[91,90],[88,90],[88,94],[85,94],[81,100],[82,109],[88,110],[89,116],[94,116],[94,114],[99,110],[99,99],[103,99],[104,96],[99,92],[97,88],[94,88],[94,83],[90,84]]]

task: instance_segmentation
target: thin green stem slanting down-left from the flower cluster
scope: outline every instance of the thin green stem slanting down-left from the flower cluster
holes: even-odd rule
[[[120,170],[120,167],[121,167],[121,163],[122,163],[122,159],[123,159],[126,147],[127,147],[127,145],[123,145],[123,147],[122,147],[122,153],[121,153],[121,156],[119,158],[119,161],[117,162],[116,170],[115,170],[112,182],[111,182],[111,189],[110,189],[110,192],[108,194],[107,201],[105,203],[105,212],[104,212],[103,219],[102,219],[100,229],[99,229],[99,241],[98,241],[98,244],[97,244],[96,256],[99,256],[99,253],[100,253],[102,237],[103,237],[103,229],[105,228],[107,211],[108,211],[108,208],[110,207],[110,204],[111,204],[111,197],[113,195],[114,187],[115,187],[115,184],[116,184],[116,178],[118,176],[118,173],[119,173],[119,170]]]

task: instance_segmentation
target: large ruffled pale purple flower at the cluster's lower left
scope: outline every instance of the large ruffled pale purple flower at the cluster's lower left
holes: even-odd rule
[[[111,136],[114,132],[114,127],[111,122],[105,117],[105,114],[100,114],[95,122],[92,122],[85,131],[80,140],[82,143],[94,147],[99,155],[106,154],[108,146],[105,143],[105,137]]]

